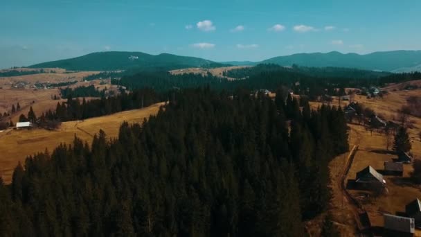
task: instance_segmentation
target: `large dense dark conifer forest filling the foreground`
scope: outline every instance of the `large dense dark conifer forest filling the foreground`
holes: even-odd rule
[[[175,92],[118,139],[75,138],[19,164],[10,186],[0,178],[0,233],[304,236],[303,220],[328,206],[328,162],[348,150],[348,133],[341,109],[298,104]]]

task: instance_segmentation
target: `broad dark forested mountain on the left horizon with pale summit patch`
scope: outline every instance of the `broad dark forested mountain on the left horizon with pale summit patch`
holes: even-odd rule
[[[126,69],[182,69],[188,67],[222,67],[223,64],[202,58],[185,57],[161,53],[150,55],[140,52],[99,52],[78,58],[44,62],[30,68],[62,68],[74,71],[115,71]]]

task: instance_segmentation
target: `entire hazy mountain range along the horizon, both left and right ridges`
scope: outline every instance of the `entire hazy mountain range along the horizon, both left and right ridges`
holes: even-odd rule
[[[348,67],[373,71],[409,72],[421,70],[421,51],[384,51],[360,55],[357,53],[297,53],[270,58],[261,62],[213,62],[202,58],[161,53],[150,55],[140,52],[89,53],[78,58],[44,62],[30,68],[59,67],[76,71],[114,71],[134,67],[161,67],[182,69],[187,67],[222,67],[226,64],[247,65],[278,64],[289,67],[297,64],[303,67]]]

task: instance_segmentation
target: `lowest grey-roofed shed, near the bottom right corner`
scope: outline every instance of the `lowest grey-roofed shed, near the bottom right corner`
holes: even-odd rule
[[[384,214],[384,236],[413,236],[415,220],[403,216]]]

